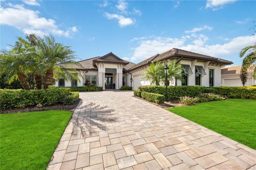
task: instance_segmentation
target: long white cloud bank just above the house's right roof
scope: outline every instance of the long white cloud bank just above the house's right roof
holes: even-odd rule
[[[209,38],[205,35],[198,35],[190,43],[188,42],[190,39],[185,36],[181,38],[154,37],[149,39],[142,38],[142,40],[140,38],[136,39],[138,40],[138,46],[133,49],[133,54],[130,57],[130,60],[134,62],[145,60],[150,56],[166,52],[172,48],[180,48],[215,57],[238,56],[240,49],[255,43],[255,37],[253,36],[235,37],[227,43],[213,45],[206,44]]]

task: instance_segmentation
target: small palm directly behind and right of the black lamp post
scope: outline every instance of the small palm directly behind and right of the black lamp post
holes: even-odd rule
[[[162,77],[161,77],[161,81],[165,83],[165,73],[164,73],[164,67],[166,65],[166,61],[163,62],[162,66],[161,66],[161,70],[162,70]],[[170,80],[181,80],[183,81],[183,67],[181,64],[177,63],[177,60],[172,60],[169,64],[168,64],[168,72],[167,72],[167,82],[169,82]],[[167,86],[169,86],[169,84],[167,84]]]

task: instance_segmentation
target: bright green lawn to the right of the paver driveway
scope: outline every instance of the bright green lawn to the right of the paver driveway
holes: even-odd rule
[[[256,100],[211,101],[169,111],[256,149]]]

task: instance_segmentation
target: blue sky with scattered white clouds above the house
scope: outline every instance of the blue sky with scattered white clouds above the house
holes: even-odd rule
[[[113,52],[139,63],[172,48],[241,65],[256,43],[256,1],[0,1],[1,49],[26,33],[53,35],[79,58]]]

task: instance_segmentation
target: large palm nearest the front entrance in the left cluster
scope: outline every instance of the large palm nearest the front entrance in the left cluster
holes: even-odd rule
[[[69,46],[56,43],[53,36],[44,36],[44,39],[37,37],[36,56],[37,58],[43,58],[41,64],[44,66],[42,70],[44,72],[45,89],[52,83],[53,78],[78,79],[78,73],[74,66],[81,65],[75,61],[74,52]]]

